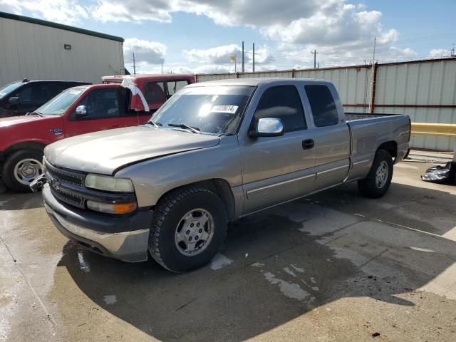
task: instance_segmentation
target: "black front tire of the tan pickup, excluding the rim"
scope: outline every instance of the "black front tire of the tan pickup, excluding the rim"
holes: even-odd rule
[[[181,219],[194,209],[212,215],[214,229],[207,247],[196,255],[184,255],[177,249],[175,234]],[[158,264],[173,272],[197,269],[212,260],[227,233],[227,212],[214,192],[200,187],[185,187],[165,195],[155,207],[150,229],[149,252]]]

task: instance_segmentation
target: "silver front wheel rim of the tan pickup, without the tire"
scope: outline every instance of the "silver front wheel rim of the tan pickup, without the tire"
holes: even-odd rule
[[[203,252],[214,236],[214,219],[204,209],[193,209],[187,212],[175,232],[177,250],[187,257]]]

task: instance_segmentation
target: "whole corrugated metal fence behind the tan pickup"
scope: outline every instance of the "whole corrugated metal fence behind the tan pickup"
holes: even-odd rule
[[[407,114],[415,123],[456,123],[456,58],[386,63],[376,66],[374,113]],[[227,78],[296,77],[331,81],[348,112],[367,113],[371,66],[197,75],[197,81]],[[410,145],[452,151],[447,137],[414,135]]]

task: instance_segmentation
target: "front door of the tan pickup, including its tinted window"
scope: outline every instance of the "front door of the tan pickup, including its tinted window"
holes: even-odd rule
[[[251,127],[260,118],[281,119],[284,135],[239,135],[244,214],[306,195],[314,187],[315,149],[304,144],[312,140],[312,132],[307,129],[296,86],[266,88],[254,110]]]

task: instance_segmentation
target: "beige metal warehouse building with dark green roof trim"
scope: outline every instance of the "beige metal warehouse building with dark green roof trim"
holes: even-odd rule
[[[24,78],[100,83],[123,73],[123,38],[0,12],[0,86]]]

